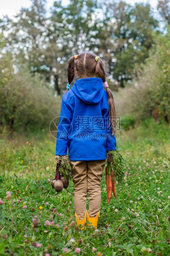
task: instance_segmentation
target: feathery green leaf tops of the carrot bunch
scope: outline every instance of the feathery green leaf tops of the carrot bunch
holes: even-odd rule
[[[114,171],[114,176],[118,184],[123,186],[123,178],[125,176],[125,164],[124,164],[123,156],[119,153],[118,150],[109,150],[107,152],[107,158],[112,159],[111,163],[107,161],[107,170],[109,170],[111,166],[111,170]],[[107,171],[107,174],[108,174],[108,171]]]

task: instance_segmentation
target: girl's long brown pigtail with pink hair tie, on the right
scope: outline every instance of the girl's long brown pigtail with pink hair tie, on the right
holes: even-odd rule
[[[114,97],[111,90],[108,88],[108,84],[106,82],[105,67],[102,60],[99,57],[96,59],[95,76],[102,78],[103,83],[106,83],[105,87],[109,104],[109,121],[112,126],[112,135],[114,135],[116,134],[116,109],[114,106]]]

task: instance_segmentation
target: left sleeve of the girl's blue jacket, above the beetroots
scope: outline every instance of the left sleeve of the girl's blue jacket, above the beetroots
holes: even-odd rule
[[[63,156],[67,154],[68,150],[68,137],[70,126],[72,122],[72,109],[62,97],[61,113],[57,127],[56,137],[56,155]]]

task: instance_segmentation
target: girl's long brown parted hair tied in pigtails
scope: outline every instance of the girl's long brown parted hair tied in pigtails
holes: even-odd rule
[[[98,61],[96,61],[95,57],[96,55],[91,52],[80,53],[77,59],[72,56],[68,62],[68,83],[71,84],[75,77],[75,67],[77,70],[77,75],[80,79],[95,76],[101,78],[103,83],[105,83],[106,72],[104,63],[100,58],[98,59]],[[68,89],[65,92],[67,91]],[[114,106],[114,97],[108,87],[106,88],[106,91],[109,104],[109,121],[112,126],[112,134],[114,135],[116,134],[116,110]]]

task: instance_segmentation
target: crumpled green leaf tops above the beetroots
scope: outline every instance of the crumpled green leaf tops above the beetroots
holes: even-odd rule
[[[72,180],[72,164],[68,156],[59,156],[58,161],[61,161],[59,171],[64,176],[65,180],[68,178]]]

